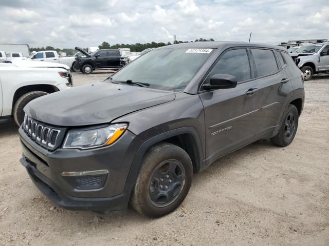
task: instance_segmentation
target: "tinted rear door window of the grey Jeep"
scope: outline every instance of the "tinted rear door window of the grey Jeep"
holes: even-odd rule
[[[278,71],[277,61],[271,50],[251,49],[251,52],[259,77]]]

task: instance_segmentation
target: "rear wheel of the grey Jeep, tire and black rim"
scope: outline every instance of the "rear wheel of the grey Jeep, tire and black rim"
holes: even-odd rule
[[[290,104],[284,115],[280,130],[275,137],[270,140],[273,144],[281,147],[289,145],[295,138],[298,129],[298,111],[295,105]],[[291,124],[291,122],[294,124]]]

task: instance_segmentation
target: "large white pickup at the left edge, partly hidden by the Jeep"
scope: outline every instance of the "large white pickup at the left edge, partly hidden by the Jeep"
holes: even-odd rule
[[[29,101],[72,87],[69,70],[63,64],[0,61],[0,123],[14,118],[21,125]]]

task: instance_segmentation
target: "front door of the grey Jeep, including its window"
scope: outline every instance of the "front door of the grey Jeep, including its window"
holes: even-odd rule
[[[238,84],[199,94],[205,109],[206,156],[210,162],[252,141],[259,111],[258,80],[252,79],[246,49],[222,54],[204,83],[209,84],[210,77],[220,73],[234,75]]]

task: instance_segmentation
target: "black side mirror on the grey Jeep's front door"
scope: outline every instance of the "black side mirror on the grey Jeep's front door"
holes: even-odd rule
[[[231,74],[217,73],[211,76],[210,85],[204,85],[205,90],[212,89],[229,89],[235,88],[237,85],[237,79]]]

